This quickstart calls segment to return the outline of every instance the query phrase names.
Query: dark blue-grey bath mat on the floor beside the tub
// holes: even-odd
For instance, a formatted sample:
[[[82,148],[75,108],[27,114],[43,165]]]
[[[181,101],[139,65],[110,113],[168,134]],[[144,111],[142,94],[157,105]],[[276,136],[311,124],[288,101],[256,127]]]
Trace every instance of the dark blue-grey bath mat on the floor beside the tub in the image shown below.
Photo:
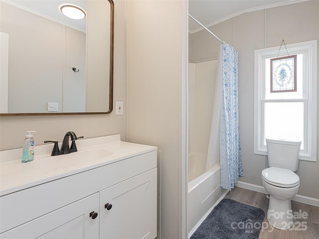
[[[264,217],[260,208],[223,199],[190,239],[258,239]]]

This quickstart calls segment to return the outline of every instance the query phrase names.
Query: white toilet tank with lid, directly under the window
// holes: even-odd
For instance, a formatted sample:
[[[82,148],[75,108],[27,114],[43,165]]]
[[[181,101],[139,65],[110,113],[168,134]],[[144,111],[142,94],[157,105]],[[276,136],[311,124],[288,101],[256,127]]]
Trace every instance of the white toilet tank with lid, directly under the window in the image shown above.
[[[292,171],[298,169],[298,154],[301,141],[266,138],[266,143],[269,167],[286,168]]]

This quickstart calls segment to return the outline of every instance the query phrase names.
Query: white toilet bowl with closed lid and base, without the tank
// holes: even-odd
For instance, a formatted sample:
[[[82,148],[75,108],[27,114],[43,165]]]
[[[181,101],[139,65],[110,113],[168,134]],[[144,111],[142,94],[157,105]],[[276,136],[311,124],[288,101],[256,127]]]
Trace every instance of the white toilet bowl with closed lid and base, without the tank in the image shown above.
[[[299,176],[289,169],[270,167],[262,171],[262,180],[270,195],[268,222],[280,230],[291,228],[294,224],[291,199],[298,192]]]

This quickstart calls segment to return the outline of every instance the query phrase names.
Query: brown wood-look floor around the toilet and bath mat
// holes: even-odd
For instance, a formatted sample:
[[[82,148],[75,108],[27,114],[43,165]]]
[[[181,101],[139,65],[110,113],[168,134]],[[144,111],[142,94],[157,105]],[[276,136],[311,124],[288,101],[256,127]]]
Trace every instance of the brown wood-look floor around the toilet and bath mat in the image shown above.
[[[265,212],[264,222],[268,223],[266,215],[269,199],[266,198],[266,194],[235,187],[225,198],[263,209]],[[295,223],[297,221],[307,222],[306,231],[278,230],[269,225],[267,229],[260,231],[259,239],[319,239],[319,208],[292,201],[292,210],[294,212],[299,212],[299,210],[307,212],[307,219],[295,220]]]

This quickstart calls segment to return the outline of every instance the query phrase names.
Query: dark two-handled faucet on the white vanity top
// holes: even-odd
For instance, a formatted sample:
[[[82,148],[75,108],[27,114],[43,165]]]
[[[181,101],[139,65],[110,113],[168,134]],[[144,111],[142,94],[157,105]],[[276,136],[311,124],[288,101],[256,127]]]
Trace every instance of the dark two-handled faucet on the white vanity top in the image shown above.
[[[72,144],[71,144],[71,148],[69,147],[69,138],[71,137],[72,140]],[[75,144],[75,140],[77,140],[78,138],[83,138],[83,136],[77,137],[76,134],[72,131],[68,131],[65,133],[64,138],[62,140],[62,146],[61,146],[61,151],[59,150],[59,146],[58,146],[58,141],[44,141],[45,143],[48,142],[52,142],[54,143],[54,147],[51,153],[51,156],[56,156],[56,155],[60,155],[60,154],[68,154],[68,153],[72,153],[72,152],[76,152],[78,151],[76,148],[76,144]]]

